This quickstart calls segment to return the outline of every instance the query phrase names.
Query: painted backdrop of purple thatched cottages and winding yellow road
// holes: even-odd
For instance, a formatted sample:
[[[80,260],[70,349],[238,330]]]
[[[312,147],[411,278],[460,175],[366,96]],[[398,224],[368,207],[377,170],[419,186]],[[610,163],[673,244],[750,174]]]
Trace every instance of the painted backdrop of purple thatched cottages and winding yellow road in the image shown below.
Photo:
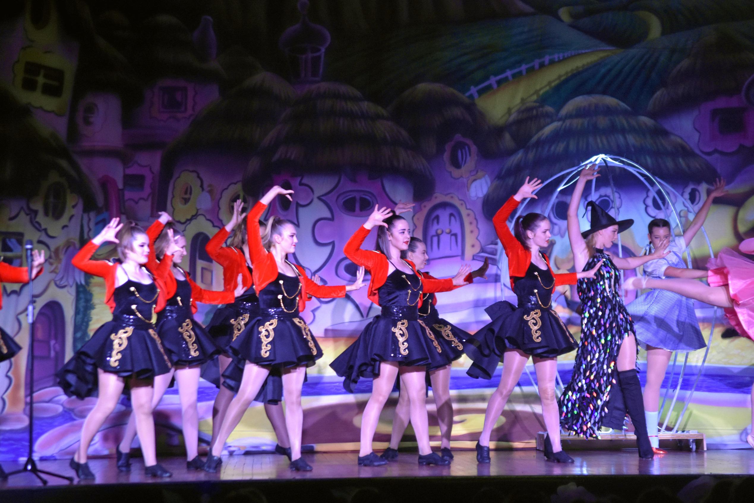
[[[746,0],[4,2],[0,256],[25,263],[31,239],[50,257],[34,282],[34,333],[23,321],[28,286],[3,285],[0,311],[21,345],[35,338],[36,453],[71,455],[93,403],[61,394],[54,371],[109,318],[103,281],[70,265],[108,219],[148,225],[167,210],[189,243],[182,265],[201,286],[220,289],[222,269],[204,245],[234,201],[280,184],[296,191],[294,201],[269,211],[298,225],[296,262],[341,284],[356,272],[342,247],[375,204],[415,201],[409,219],[428,244],[433,275],[452,275],[461,262],[492,264],[486,281],[439,296],[443,317],[473,332],[486,324],[487,305],[510,297],[491,218],[526,176],[549,179],[605,153],[663,180],[668,196],[615,167],[587,191],[636,220],[621,236],[624,255],[642,253],[642,229],[654,217],[676,210],[688,224],[718,176],[730,192],[716,200],[689,259],[703,267],[710,247],[754,236],[752,75],[754,4]],[[547,210],[547,251],[556,270],[569,271],[570,189],[556,192],[561,180],[527,210]],[[97,256],[112,254],[103,247]],[[562,287],[555,302],[578,334],[575,290]],[[701,374],[704,351],[688,357],[680,385],[683,355],[673,379],[669,372],[665,384],[679,394],[666,407],[668,424],[688,405],[679,429],[703,431],[710,446],[741,446],[754,347],[730,337],[710,306],[696,307],[710,351]],[[202,306],[198,320],[212,312]],[[326,357],[308,370],[305,443],[355,446],[370,385],[346,394],[328,363],[374,314],[365,290],[309,303],[305,319]],[[26,452],[31,357],[24,350],[0,363],[0,459]],[[572,360],[559,363],[564,381]],[[476,440],[497,385],[467,378],[465,367],[454,363],[451,383],[459,442]],[[493,434],[501,443],[532,446],[544,428],[532,384],[525,373]],[[203,382],[203,440],[215,392]],[[128,412],[123,399],[93,453],[113,452]],[[179,414],[171,390],[156,415],[166,451],[181,449]],[[378,441],[388,440],[391,416],[388,406]],[[255,404],[229,449],[272,445]]]

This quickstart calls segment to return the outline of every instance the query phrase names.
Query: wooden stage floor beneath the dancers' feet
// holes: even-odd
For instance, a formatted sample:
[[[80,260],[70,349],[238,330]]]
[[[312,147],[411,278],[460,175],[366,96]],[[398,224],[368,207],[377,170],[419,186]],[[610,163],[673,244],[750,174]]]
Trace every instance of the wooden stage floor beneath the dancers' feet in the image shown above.
[[[86,486],[88,494],[94,495],[97,490],[106,491],[107,501],[112,499],[113,485],[133,490],[142,488],[144,494],[154,489],[167,491],[186,491],[191,487],[196,491],[208,491],[208,487],[221,487],[238,489],[242,486],[253,485],[260,490],[269,490],[277,483],[284,483],[287,488],[287,498],[284,501],[296,501],[291,497],[289,489],[298,487],[305,493],[306,484],[311,484],[311,490],[317,491],[323,488],[332,488],[340,485],[367,484],[382,487],[381,490],[390,488],[403,488],[407,484],[415,488],[422,485],[440,487],[443,484],[456,484],[453,487],[461,488],[469,486],[480,488],[485,484],[501,483],[506,487],[513,487],[516,483],[524,483],[531,487],[535,485],[544,492],[556,490],[557,486],[575,481],[578,485],[589,486],[588,482],[597,483],[602,480],[612,484],[615,476],[623,479],[634,480],[630,487],[638,491],[645,490],[652,480],[663,480],[664,486],[677,486],[678,488],[700,475],[737,476],[754,474],[754,451],[741,450],[708,450],[697,452],[670,451],[666,455],[657,456],[651,461],[640,460],[636,455],[636,449],[624,449],[618,451],[574,451],[571,452],[576,462],[573,465],[560,465],[544,461],[544,455],[534,449],[499,450],[493,451],[492,464],[478,465],[474,451],[455,451],[455,459],[449,467],[422,467],[417,464],[415,452],[401,452],[397,462],[391,462],[384,467],[364,468],[357,466],[355,452],[323,452],[305,454],[305,459],[314,467],[314,471],[295,472],[288,468],[288,461],[284,456],[276,454],[256,455],[231,455],[224,456],[222,469],[217,474],[207,474],[204,471],[187,471],[185,459],[167,458],[161,459],[161,464],[173,472],[169,479],[146,478],[143,474],[141,459],[133,460],[130,474],[121,474],[115,468],[115,459],[90,459],[90,467],[97,475],[96,482],[76,481],[72,489],[83,489]],[[20,468],[18,463],[3,462],[6,471]],[[38,467],[42,470],[53,471],[61,474],[72,475],[67,460],[41,461]],[[630,477],[633,476],[633,477]],[[659,477],[657,477],[659,476]],[[65,480],[48,477],[50,486],[42,489],[41,484],[32,474],[21,474],[11,477],[7,481],[0,481],[0,501],[51,501],[44,498],[44,492],[49,489],[57,489],[55,494],[62,496],[66,490],[62,486],[68,486]],[[529,480],[527,483],[526,480]],[[645,482],[637,482],[645,480]],[[255,481],[254,484],[249,484]],[[513,486],[511,485],[512,482]],[[606,481],[606,482],[605,482]],[[627,480],[624,480],[624,482]],[[442,482],[442,484],[440,484]],[[70,487],[70,486],[69,486]],[[608,485],[609,487],[609,485]],[[204,488],[204,489],[202,489]],[[5,490],[2,490],[5,489]],[[10,495],[13,489],[27,489],[17,494],[25,494],[26,499],[5,499],[3,493]],[[264,489],[264,490],[268,490]],[[213,489],[217,492],[219,489]],[[235,490],[235,489],[234,489]],[[403,489],[401,489],[403,490]],[[599,488],[596,489],[599,492]],[[119,492],[120,489],[118,489]],[[164,491],[163,491],[164,492]],[[211,491],[210,491],[211,492]],[[552,492],[550,493],[552,494]],[[35,495],[40,498],[36,500]],[[73,493],[71,493],[73,496]],[[412,498],[412,501],[420,501]],[[65,501],[65,500],[64,500]],[[76,501],[69,499],[67,501]],[[84,500],[81,500],[84,501]],[[183,499],[182,501],[190,501]],[[197,499],[196,501],[199,501]],[[209,501],[209,500],[202,500]],[[267,495],[264,501],[277,501],[274,495]],[[281,500],[282,501],[282,500]],[[392,501],[407,501],[403,498],[394,498]],[[629,500],[630,501],[630,500]]]

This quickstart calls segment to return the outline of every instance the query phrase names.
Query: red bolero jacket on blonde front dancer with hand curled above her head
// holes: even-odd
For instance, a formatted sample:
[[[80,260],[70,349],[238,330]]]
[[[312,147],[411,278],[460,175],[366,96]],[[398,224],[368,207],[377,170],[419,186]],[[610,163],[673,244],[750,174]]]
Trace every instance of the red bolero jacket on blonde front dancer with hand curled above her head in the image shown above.
[[[256,293],[264,289],[277,278],[277,263],[272,253],[265,250],[262,246],[262,237],[259,235],[259,217],[265,213],[266,204],[258,202],[247,216],[246,228],[248,232],[247,242],[249,243],[249,255],[253,271],[254,289]],[[293,264],[292,264],[293,265]],[[299,311],[306,307],[308,296],[320,297],[323,299],[332,299],[333,297],[345,297],[345,285],[339,287],[327,287],[318,285],[309,279],[300,265],[293,265],[299,272],[301,280],[301,295],[299,296]]]

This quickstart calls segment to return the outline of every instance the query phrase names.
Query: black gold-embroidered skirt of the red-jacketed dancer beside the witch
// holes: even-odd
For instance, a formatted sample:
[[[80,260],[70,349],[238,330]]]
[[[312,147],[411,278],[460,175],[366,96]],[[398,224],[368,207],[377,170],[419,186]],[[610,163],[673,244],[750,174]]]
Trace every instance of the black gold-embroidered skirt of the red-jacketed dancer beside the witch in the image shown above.
[[[578,345],[552,308],[525,305],[516,308],[507,301],[486,310],[492,322],[467,339],[464,352],[472,360],[466,373],[492,379],[506,349],[519,349],[535,357],[549,358],[570,353]]]

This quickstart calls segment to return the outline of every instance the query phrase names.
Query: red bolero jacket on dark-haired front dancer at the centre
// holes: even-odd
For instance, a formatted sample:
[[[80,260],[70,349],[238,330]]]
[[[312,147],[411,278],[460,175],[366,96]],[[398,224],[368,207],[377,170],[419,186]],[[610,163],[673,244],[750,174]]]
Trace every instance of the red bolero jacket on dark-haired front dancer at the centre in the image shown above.
[[[390,262],[388,262],[388,257],[379,253],[379,251],[361,249],[361,245],[366,239],[366,236],[369,235],[369,232],[370,229],[363,225],[358,228],[357,231],[354,232],[354,235],[351,236],[351,239],[348,240],[348,243],[345,244],[343,253],[345,253],[345,256],[347,256],[348,259],[351,259],[351,262],[354,262],[354,264],[363,265],[363,267],[369,271],[369,274],[372,275],[372,278],[369,279],[369,290],[367,291],[366,296],[368,296],[369,300],[376,305],[379,305],[379,293],[377,290],[388,280],[388,268],[390,267]],[[406,260],[406,263],[411,266],[414,272],[416,272],[413,262]],[[419,276],[419,279],[423,286],[423,293],[447,292],[453,290],[453,287],[455,287],[452,278],[438,280],[427,278],[426,276],[425,278],[421,278],[421,276]],[[421,307],[421,300],[423,298],[424,296],[421,296],[417,307]]]

